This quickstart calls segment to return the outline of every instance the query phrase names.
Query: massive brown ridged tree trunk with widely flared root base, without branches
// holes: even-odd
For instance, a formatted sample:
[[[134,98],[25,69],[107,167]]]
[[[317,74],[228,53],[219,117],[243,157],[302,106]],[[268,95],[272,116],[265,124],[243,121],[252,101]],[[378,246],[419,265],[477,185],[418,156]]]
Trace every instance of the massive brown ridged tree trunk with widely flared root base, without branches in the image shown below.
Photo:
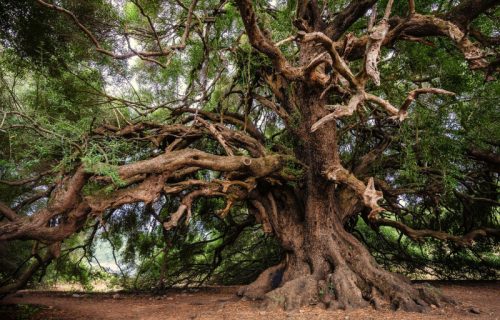
[[[444,301],[430,288],[413,286],[405,277],[383,270],[368,250],[344,229],[345,220],[362,209],[349,189],[325,177],[325,170],[339,161],[336,124],[330,122],[314,133],[311,125],[324,116],[320,93],[299,88],[302,127],[296,131],[296,156],[308,170],[299,191],[256,195],[267,212],[286,258],[264,271],[240,295],[265,299],[270,305],[294,309],[308,304],[329,308],[373,305],[423,311]],[[352,193],[352,197],[347,195]]]

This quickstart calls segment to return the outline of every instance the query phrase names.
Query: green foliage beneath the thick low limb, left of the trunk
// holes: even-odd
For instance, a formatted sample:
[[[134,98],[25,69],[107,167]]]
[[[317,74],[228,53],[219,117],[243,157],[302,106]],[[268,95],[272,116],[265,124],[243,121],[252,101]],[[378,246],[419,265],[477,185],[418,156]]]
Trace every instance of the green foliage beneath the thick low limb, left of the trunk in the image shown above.
[[[166,201],[158,213],[161,217],[178,205],[173,199],[161,201]],[[151,220],[151,209],[126,206],[108,220],[108,232],[98,243],[110,246],[100,246],[101,253],[96,254],[101,264],[115,265],[116,280],[122,287],[136,290],[250,282],[279,261],[279,246],[259,226],[249,223],[251,217],[241,207],[231,210],[225,219],[209,214],[223,207],[220,199],[200,199],[188,226],[165,233]],[[248,226],[240,229],[243,225]],[[108,254],[103,255],[103,250]],[[114,250],[116,261],[109,250]]]

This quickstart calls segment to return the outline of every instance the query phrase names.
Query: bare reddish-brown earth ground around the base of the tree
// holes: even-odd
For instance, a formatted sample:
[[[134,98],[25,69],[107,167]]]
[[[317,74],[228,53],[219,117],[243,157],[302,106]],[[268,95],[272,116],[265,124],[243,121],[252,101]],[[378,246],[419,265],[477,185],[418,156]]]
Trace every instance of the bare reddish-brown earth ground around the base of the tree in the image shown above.
[[[235,287],[197,292],[169,291],[162,295],[21,291],[0,300],[0,319],[499,319],[500,282],[433,282],[459,303],[430,313],[323,310],[304,307],[287,312],[265,310],[258,301],[242,301]]]

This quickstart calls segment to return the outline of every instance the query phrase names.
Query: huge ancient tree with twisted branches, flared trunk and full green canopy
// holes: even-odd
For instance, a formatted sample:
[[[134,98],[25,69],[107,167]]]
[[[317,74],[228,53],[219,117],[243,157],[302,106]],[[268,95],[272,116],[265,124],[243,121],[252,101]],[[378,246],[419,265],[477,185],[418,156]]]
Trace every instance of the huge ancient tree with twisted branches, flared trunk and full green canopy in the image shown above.
[[[241,295],[439,305],[362,242],[380,235],[383,262],[410,240],[445,241],[425,248],[439,257],[498,236],[496,4],[2,3],[0,240],[34,242],[1,292],[100,225],[148,254],[131,226],[163,227],[167,248],[206,212],[197,234],[229,222],[217,248],[256,221],[283,250]],[[474,250],[498,264],[493,240]]]

